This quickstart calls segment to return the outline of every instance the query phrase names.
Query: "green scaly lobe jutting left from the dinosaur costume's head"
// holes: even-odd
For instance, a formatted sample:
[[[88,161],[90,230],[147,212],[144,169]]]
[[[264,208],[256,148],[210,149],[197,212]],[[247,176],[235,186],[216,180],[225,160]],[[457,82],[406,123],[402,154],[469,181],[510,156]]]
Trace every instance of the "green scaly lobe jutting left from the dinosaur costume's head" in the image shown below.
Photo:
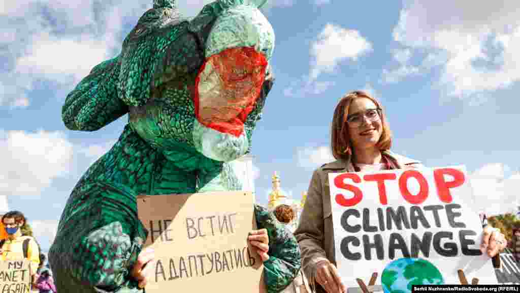
[[[67,95],[61,118],[71,130],[95,131],[128,113],[118,97],[120,56],[95,66]]]

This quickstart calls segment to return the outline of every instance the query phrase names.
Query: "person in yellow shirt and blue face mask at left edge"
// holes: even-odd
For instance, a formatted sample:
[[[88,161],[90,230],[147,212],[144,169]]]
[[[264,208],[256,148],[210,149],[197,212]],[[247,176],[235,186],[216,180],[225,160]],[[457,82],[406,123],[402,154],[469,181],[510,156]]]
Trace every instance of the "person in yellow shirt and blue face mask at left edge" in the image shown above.
[[[40,264],[40,248],[32,236],[22,235],[20,227],[25,223],[25,216],[19,211],[11,211],[2,216],[7,239],[0,240],[0,259],[14,261],[27,259],[31,283],[36,285],[36,271]]]

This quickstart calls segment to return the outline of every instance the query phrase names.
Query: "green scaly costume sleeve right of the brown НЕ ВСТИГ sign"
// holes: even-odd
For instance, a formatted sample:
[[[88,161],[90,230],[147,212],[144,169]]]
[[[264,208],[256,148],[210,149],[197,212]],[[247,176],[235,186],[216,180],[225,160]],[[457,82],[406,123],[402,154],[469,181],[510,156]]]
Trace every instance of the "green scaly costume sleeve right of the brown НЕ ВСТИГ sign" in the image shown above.
[[[266,228],[269,236],[269,259],[264,262],[267,292],[280,292],[300,270],[300,248],[291,232],[264,207],[255,205],[255,215],[258,229]]]

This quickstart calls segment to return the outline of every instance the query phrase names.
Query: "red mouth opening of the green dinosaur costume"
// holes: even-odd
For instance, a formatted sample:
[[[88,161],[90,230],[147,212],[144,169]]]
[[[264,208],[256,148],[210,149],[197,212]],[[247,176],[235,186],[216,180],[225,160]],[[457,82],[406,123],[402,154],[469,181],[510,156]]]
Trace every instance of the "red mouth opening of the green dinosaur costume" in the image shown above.
[[[240,136],[265,79],[267,60],[251,47],[229,48],[206,59],[193,93],[202,125]]]

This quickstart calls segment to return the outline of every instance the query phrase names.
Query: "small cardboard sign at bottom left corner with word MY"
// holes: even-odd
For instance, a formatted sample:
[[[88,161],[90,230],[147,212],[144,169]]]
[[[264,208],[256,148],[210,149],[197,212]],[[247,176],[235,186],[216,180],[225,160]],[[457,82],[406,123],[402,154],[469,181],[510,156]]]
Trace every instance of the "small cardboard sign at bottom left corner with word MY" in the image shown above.
[[[0,292],[27,293],[30,291],[29,261],[0,261]]]

